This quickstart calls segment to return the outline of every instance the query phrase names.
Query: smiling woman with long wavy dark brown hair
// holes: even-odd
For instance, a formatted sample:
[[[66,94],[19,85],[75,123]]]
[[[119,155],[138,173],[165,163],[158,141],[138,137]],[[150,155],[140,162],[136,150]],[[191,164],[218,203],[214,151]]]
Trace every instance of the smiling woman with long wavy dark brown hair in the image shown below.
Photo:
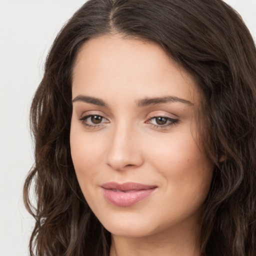
[[[86,2],[32,101],[30,254],[254,256],[255,74],[221,0]]]

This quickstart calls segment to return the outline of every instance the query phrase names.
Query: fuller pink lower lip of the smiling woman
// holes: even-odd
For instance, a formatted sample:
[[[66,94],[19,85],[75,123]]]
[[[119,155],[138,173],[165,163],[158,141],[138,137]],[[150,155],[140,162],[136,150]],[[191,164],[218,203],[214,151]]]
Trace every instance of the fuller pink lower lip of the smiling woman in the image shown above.
[[[117,206],[130,206],[148,197],[156,187],[149,189],[134,190],[129,192],[117,192],[103,188],[105,199]]]

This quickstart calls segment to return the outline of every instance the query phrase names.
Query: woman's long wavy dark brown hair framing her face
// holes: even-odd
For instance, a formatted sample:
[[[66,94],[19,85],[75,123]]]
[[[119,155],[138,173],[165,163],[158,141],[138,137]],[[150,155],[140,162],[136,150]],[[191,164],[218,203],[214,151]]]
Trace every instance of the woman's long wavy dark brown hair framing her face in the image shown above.
[[[201,91],[201,136],[214,163],[201,255],[255,256],[256,49],[240,16],[221,0],[89,0],[68,20],[31,105],[35,164],[24,184],[24,202],[35,218],[30,254],[109,254],[110,233],[75,176],[69,129],[75,56],[87,39],[113,33],[158,43]]]

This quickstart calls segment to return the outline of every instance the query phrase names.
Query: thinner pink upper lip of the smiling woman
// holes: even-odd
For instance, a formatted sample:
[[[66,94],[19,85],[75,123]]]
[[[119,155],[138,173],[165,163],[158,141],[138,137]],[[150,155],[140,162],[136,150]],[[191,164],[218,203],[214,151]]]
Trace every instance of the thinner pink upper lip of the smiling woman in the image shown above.
[[[121,191],[127,190],[142,190],[142,189],[151,189],[157,187],[156,185],[146,185],[140,184],[136,182],[125,182],[125,183],[117,183],[117,182],[107,182],[101,185],[101,187],[105,189],[116,189]]]

